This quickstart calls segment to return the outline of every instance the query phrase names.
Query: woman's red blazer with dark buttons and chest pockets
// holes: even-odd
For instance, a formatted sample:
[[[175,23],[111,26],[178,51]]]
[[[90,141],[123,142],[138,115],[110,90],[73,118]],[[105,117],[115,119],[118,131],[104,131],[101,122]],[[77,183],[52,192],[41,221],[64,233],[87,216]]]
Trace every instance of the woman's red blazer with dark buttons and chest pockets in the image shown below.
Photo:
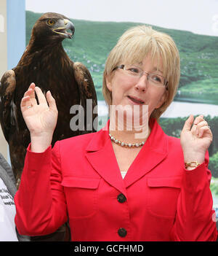
[[[28,147],[15,195],[19,233],[46,235],[69,218],[73,241],[216,241],[208,154],[187,171],[179,139],[156,120],[150,127],[124,179],[108,131],[43,153]]]

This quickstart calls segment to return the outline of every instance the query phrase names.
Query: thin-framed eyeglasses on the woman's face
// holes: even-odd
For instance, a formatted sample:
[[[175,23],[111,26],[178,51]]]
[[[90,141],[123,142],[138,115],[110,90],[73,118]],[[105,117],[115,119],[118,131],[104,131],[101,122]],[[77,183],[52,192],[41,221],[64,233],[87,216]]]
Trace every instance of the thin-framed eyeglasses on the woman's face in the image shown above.
[[[135,77],[136,79],[140,79],[140,77],[142,77],[143,74],[147,74],[147,79],[151,85],[167,88],[168,82],[160,74],[149,74],[148,72],[143,71],[142,69],[140,69],[140,67],[135,65],[119,65],[116,66],[112,71],[116,69],[123,69],[125,71],[124,74],[127,74],[131,77]]]

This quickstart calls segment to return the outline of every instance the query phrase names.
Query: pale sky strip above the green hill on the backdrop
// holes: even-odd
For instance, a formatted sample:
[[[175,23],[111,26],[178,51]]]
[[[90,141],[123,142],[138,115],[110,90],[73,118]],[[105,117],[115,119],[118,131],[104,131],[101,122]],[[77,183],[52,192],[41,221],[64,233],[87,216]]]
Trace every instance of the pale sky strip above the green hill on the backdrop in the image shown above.
[[[76,20],[133,21],[218,36],[218,0],[25,0],[25,6]]]

